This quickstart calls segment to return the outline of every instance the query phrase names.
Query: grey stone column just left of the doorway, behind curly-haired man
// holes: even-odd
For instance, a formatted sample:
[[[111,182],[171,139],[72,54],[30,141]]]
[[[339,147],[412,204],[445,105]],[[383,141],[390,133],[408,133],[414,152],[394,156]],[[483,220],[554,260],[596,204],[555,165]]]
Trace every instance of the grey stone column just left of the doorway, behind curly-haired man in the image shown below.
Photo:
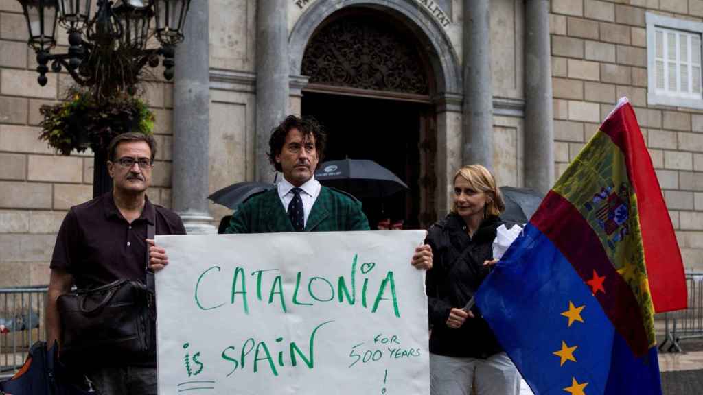
[[[271,182],[269,137],[288,114],[288,1],[259,0],[257,7],[256,179]]]

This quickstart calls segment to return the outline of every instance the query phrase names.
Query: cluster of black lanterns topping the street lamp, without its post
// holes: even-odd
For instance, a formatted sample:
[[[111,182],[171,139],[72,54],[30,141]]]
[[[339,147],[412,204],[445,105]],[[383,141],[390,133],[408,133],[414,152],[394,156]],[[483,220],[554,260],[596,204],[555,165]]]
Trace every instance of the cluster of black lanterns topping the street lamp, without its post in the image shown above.
[[[183,41],[183,24],[191,0],[98,0],[90,18],[91,0],[18,0],[30,31],[28,44],[37,53],[39,85],[46,85],[47,65],[65,69],[82,86],[102,86],[102,96],[134,89],[144,65],[157,67],[163,58],[164,77],[174,75],[175,46]],[[114,5],[114,6],[113,6]],[[150,31],[151,20],[155,28]],[[56,22],[65,27],[67,53],[51,54]],[[150,33],[160,48],[146,48]],[[124,64],[129,63],[127,72]],[[120,65],[117,69],[117,65]]]

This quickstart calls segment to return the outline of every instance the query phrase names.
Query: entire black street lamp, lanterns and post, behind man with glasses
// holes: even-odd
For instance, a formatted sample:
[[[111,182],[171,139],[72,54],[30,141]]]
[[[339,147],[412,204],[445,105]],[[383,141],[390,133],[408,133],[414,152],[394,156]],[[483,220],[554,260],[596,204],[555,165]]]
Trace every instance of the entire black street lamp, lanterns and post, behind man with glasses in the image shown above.
[[[170,80],[174,76],[175,48],[183,41],[191,0],[18,1],[30,32],[28,44],[37,53],[37,82],[41,86],[48,82],[46,73],[51,63],[54,72],[66,70],[88,92],[93,110],[101,112],[116,99],[134,96],[145,65],[157,67],[161,63],[164,77]],[[96,9],[91,13],[93,2]],[[50,52],[56,46],[57,23],[68,33],[69,47],[63,53]],[[158,45],[149,45],[156,44],[151,37],[156,38]],[[126,127],[118,125],[129,123],[133,115],[120,113],[119,119],[107,119],[108,116],[90,114],[91,111],[82,110],[80,119],[72,118],[69,124],[75,127],[69,129],[77,140],[69,141],[90,141],[95,154],[93,196],[98,196],[112,186],[105,166],[108,153],[104,136],[126,131]]]

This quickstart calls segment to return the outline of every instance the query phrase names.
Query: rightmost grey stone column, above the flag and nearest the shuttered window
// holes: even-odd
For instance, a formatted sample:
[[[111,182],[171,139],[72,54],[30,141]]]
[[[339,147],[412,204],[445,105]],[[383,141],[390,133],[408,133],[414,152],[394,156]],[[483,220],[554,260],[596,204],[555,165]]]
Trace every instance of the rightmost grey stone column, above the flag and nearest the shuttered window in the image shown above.
[[[525,1],[525,186],[547,193],[554,183],[549,1]]]

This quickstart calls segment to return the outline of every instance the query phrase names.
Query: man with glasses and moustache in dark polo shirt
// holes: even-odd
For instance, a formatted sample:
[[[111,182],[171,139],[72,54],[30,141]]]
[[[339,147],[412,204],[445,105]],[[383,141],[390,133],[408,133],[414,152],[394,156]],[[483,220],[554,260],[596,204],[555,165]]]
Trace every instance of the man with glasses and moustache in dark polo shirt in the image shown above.
[[[49,346],[61,340],[57,299],[79,289],[112,281],[143,280],[146,254],[153,240],[147,225],[157,235],[183,235],[186,228],[174,212],[151,203],[150,186],[156,142],[140,133],[120,134],[108,148],[108,171],[112,191],[71,207],[56,238],[51,259],[46,322]],[[96,164],[98,165],[98,164]],[[151,262],[158,271],[163,266]],[[156,357],[136,361],[130,355],[105,355],[103,361],[86,361],[86,372],[98,391],[112,394],[156,394]]]

